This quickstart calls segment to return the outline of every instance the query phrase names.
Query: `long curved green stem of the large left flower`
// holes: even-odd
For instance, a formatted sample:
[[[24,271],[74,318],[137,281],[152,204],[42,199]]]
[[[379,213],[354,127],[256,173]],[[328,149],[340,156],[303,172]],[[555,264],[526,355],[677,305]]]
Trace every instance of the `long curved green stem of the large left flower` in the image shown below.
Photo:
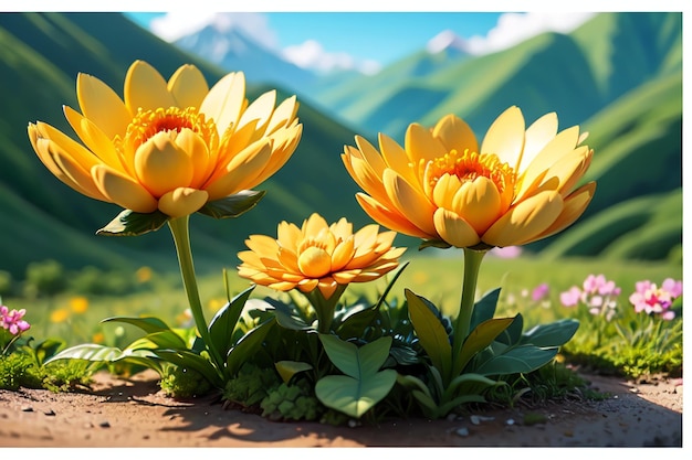
[[[190,310],[192,311],[195,325],[197,327],[197,331],[202,338],[205,346],[209,351],[211,360],[217,366],[219,374],[222,374],[223,360],[213,346],[211,335],[209,334],[209,327],[207,325],[207,320],[205,320],[202,302],[199,300],[197,278],[195,276],[195,264],[192,263],[192,250],[190,248],[189,221],[189,215],[171,218],[168,221],[168,226],[170,227],[170,233],[172,234],[174,242],[176,244],[176,250],[178,252],[178,264],[180,265],[182,286],[185,287],[185,292],[188,296],[188,302],[190,304]]]

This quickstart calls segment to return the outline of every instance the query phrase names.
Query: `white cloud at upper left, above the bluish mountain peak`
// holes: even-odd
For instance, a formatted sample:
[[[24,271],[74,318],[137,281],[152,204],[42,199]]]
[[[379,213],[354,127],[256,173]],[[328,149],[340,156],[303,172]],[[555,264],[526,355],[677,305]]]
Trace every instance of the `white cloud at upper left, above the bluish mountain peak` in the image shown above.
[[[269,50],[277,46],[276,34],[269,26],[266,15],[262,13],[196,13],[190,11],[169,12],[151,21],[151,32],[161,39],[172,42],[181,36],[198,32],[207,25],[213,25],[217,30],[226,32],[230,29],[242,31]]]

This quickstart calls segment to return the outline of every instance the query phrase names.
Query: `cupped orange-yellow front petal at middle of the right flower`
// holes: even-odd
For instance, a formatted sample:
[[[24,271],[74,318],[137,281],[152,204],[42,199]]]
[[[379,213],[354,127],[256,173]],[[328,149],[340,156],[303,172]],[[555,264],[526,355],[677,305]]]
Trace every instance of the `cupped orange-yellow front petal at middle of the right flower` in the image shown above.
[[[465,182],[454,194],[452,211],[482,235],[500,217],[501,197],[495,183],[485,176]]]

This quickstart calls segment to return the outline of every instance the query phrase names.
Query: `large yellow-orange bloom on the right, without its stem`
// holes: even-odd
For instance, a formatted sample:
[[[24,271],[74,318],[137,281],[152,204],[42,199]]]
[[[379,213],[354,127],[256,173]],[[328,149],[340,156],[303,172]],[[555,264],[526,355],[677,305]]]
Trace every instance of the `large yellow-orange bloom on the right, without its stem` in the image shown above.
[[[558,132],[555,114],[526,129],[510,107],[480,149],[469,126],[448,115],[432,129],[410,125],[403,148],[381,133],[380,151],[356,137],[342,159],[379,224],[443,245],[504,247],[553,235],[586,210],[596,183],[574,190],[594,154],[579,146],[585,137],[578,126]]]

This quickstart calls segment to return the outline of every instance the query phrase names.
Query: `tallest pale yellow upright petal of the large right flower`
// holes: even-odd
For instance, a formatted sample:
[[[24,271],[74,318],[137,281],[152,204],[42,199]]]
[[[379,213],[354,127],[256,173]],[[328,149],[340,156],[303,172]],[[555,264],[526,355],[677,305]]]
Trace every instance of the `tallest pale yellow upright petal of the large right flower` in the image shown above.
[[[516,171],[524,149],[524,129],[522,110],[510,107],[487,129],[479,153],[495,153]]]

